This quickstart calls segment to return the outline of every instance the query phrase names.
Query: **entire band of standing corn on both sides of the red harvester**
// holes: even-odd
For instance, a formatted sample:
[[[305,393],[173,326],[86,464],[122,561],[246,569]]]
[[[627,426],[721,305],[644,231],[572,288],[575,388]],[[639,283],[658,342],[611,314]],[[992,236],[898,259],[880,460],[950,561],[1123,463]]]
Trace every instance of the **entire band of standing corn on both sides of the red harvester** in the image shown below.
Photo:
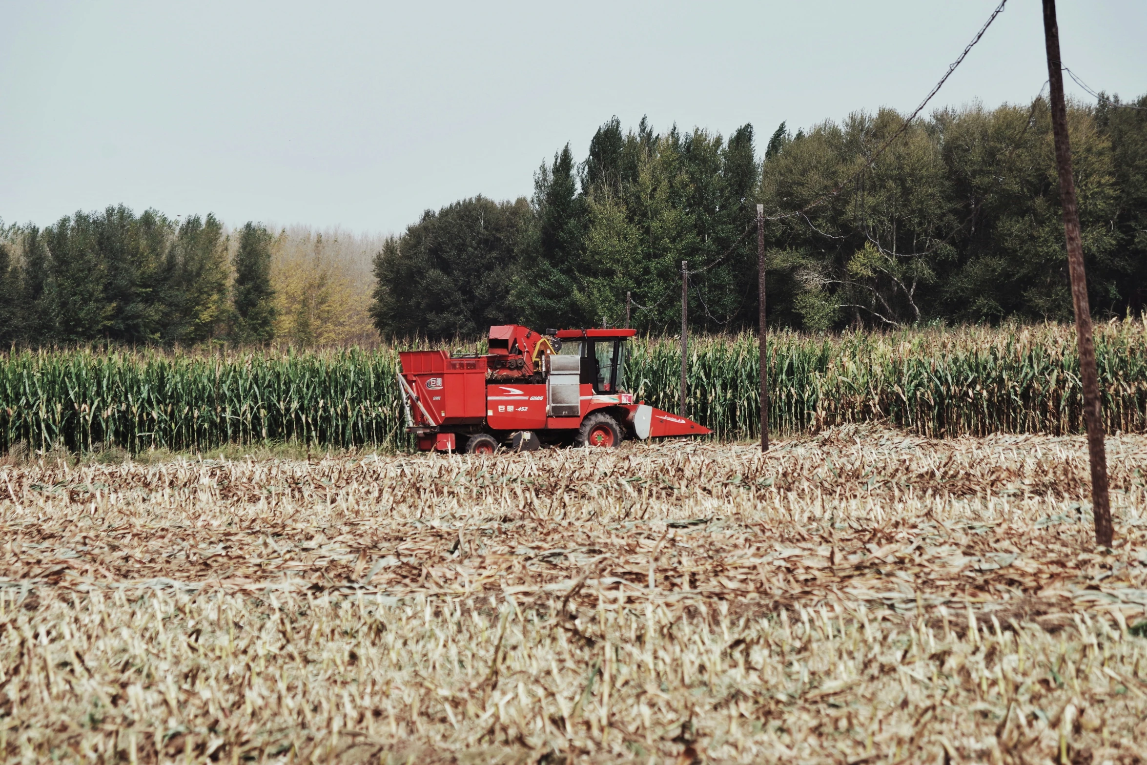
[[[637,338],[637,397],[678,408],[672,337]],[[455,344],[455,350],[474,350]],[[816,432],[883,421],[924,436],[1078,432],[1083,396],[1071,326],[770,336],[770,428]],[[1147,319],[1097,327],[1109,431],[1147,430]],[[688,414],[725,439],[757,436],[752,335],[689,344]],[[393,348],[218,356],[157,351],[13,352],[0,358],[0,452],[118,446],[206,450],[296,440],[409,448]]]

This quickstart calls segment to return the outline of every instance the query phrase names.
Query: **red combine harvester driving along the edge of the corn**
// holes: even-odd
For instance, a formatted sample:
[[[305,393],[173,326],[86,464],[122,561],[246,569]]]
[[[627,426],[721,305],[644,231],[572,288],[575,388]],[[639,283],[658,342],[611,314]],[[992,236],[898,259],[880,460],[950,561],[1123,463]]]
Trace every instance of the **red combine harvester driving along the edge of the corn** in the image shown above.
[[[624,438],[700,436],[686,417],[633,403],[623,374],[633,329],[490,328],[485,356],[403,351],[406,429],[422,451],[491,454],[543,443],[617,446]]]

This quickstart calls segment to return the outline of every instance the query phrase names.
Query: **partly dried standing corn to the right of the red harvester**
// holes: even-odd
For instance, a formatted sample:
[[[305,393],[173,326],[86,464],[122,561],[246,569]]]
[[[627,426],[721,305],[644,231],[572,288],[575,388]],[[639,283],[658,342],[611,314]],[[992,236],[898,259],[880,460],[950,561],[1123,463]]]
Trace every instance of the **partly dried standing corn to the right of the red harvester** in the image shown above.
[[[807,432],[885,421],[929,437],[1083,430],[1074,326],[968,327],[768,336],[770,430]],[[1147,317],[1095,327],[1109,432],[1147,430]],[[680,341],[635,343],[626,369],[649,404],[676,411]],[[688,412],[720,437],[758,435],[752,335],[689,343]]]

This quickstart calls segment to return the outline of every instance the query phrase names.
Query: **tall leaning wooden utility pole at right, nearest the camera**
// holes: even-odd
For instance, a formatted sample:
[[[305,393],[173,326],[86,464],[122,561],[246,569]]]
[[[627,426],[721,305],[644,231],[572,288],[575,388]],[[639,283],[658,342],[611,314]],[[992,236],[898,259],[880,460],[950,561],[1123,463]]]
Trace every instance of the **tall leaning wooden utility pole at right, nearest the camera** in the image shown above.
[[[1095,341],[1087,302],[1087,279],[1083,270],[1083,241],[1079,237],[1079,210],[1075,179],[1071,175],[1071,143],[1068,115],[1063,103],[1063,64],[1060,58],[1060,29],[1055,22],[1055,0],[1044,0],[1044,39],[1047,44],[1047,75],[1052,86],[1052,130],[1055,133],[1055,162],[1060,170],[1060,204],[1063,206],[1063,233],[1071,272],[1071,302],[1075,304],[1076,341],[1079,345],[1079,377],[1083,380],[1083,413],[1087,424],[1091,455],[1091,506],[1095,516],[1095,544],[1110,547],[1115,537],[1111,506],[1107,495],[1107,454],[1103,450],[1103,413],[1095,372]]]

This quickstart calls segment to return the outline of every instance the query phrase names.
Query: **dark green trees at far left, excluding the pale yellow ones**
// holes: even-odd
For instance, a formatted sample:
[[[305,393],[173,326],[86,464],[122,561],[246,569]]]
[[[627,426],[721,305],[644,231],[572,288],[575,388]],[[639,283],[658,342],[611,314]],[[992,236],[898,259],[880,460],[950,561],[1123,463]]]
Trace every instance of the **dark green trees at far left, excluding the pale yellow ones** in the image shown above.
[[[77,212],[0,243],[0,342],[266,343],[275,321],[271,241],[248,223],[229,237],[219,220],[182,223],[124,205]],[[18,258],[13,257],[16,250]]]

